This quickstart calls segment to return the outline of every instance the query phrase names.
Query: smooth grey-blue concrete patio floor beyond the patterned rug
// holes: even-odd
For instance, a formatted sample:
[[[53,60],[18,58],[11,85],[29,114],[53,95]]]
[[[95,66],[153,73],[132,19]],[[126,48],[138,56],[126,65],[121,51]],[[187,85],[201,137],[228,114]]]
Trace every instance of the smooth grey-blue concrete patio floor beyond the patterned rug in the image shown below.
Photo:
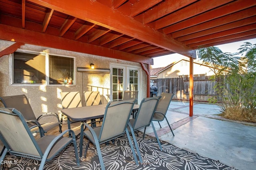
[[[175,136],[165,120],[162,128],[154,122],[160,140],[238,170],[255,170],[256,123],[222,119],[216,105],[194,103],[193,110],[189,117],[189,103],[172,101],[166,116]],[[146,134],[154,136],[151,126]]]

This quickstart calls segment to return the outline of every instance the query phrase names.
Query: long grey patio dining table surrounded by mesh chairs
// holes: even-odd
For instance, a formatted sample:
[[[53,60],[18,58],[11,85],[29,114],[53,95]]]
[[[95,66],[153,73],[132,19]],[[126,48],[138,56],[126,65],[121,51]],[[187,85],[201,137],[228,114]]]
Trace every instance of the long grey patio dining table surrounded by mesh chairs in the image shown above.
[[[139,109],[140,105],[134,105],[133,112],[136,112]],[[79,156],[82,156],[82,143],[83,143],[83,134],[84,134],[84,123],[87,120],[91,119],[100,119],[104,117],[106,109],[106,104],[104,105],[93,105],[93,106],[84,106],[84,107],[74,107],[68,109],[62,109],[62,113],[68,118],[68,129],[70,127],[70,119],[72,121],[81,122],[80,127],[80,153]],[[122,114],[122,113],[120,113]],[[71,135],[71,134],[70,134]]]

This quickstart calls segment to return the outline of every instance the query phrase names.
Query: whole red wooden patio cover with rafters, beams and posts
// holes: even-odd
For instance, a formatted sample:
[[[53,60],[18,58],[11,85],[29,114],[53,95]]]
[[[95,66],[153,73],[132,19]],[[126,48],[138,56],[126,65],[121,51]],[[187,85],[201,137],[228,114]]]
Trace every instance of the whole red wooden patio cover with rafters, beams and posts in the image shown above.
[[[0,57],[28,43],[134,61],[149,87],[154,57],[190,57],[192,77],[195,49],[256,38],[255,11],[255,0],[0,0],[0,39],[16,42]]]

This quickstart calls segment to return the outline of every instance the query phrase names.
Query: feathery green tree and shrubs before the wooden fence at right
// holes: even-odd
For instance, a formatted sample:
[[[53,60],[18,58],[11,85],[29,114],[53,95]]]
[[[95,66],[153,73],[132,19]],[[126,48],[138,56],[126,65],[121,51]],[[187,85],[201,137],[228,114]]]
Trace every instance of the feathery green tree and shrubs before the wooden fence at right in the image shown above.
[[[238,50],[223,53],[218,47],[206,47],[197,53],[199,59],[213,67],[218,80],[214,101],[222,102],[222,115],[256,122],[256,44],[246,42]]]

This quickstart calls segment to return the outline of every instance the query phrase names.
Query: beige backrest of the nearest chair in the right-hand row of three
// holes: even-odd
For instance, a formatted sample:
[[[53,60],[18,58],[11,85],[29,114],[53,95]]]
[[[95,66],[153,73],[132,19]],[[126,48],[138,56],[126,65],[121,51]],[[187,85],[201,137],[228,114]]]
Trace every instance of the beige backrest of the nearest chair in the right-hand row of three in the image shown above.
[[[106,106],[99,142],[116,138],[125,133],[135,100],[109,102]]]

